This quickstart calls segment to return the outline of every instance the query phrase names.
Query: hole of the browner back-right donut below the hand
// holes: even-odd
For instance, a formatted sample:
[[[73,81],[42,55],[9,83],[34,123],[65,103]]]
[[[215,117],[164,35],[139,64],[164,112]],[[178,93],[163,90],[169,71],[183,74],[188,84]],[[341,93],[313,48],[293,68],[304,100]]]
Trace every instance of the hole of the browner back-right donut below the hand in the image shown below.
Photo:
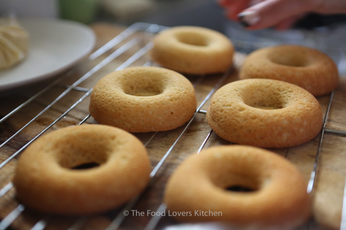
[[[290,67],[305,67],[310,63],[305,55],[297,52],[271,52],[268,58],[275,64]]]

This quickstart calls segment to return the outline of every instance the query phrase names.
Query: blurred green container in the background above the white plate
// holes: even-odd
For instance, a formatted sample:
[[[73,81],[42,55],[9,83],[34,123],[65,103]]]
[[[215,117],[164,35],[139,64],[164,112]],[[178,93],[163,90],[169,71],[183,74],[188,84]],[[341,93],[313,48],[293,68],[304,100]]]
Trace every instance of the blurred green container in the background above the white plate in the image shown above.
[[[97,0],[58,0],[59,16],[89,24],[94,21],[97,12]]]

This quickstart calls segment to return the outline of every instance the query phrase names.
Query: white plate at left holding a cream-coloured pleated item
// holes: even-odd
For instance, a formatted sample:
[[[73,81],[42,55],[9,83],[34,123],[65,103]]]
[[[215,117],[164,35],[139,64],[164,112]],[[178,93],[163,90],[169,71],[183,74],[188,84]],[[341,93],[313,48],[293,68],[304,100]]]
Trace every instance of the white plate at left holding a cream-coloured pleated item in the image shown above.
[[[0,90],[40,81],[71,68],[92,50],[95,35],[87,25],[58,19],[20,19],[30,34],[28,56],[0,71]]]

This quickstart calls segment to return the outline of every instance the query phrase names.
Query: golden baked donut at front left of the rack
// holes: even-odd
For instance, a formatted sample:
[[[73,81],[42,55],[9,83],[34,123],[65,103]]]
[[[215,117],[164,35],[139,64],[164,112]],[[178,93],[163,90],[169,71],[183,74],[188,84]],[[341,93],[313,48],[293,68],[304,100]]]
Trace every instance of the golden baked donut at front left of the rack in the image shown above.
[[[75,169],[94,163],[98,167]],[[93,214],[119,207],[149,181],[143,144],[119,128],[85,124],[45,134],[20,156],[13,184],[28,207],[53,214]]]

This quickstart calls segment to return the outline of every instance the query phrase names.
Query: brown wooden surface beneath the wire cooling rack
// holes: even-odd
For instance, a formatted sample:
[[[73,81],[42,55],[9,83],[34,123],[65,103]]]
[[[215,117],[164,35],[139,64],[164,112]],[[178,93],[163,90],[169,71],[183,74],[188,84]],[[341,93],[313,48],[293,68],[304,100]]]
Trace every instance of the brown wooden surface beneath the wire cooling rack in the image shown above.
[[[100,48],[125,29],[113,24],[105,23],[94,24],[91,27],[97,37],[94,50]],[[93,68],[100,65],[99,63],[101,63],[105,57],[135,36],[141,38],[138,44],[134,45],[124,54],[95,71],[91,77],[88,77],[78,85],[79,87],[82,87],[80,90],[69,90],[69,88],[67,88],[80,77],[90,73],[90,70],[95,70]],[[43,226],[45,226],[45,229],[57,230],[68,229],[71,226],[74,226],[74,229],[98,230],[109,226],[115,218],[122,217],[122,208],[87,218],[52,216],[44,213],[37,213],[30,210],[30,208],[20,205],[16,199],[14,188],[9,189],[8,192],[3,192],[5,189],[1,190],[1,188],[9,188],[6,186],[11,185],[9,183],[13,177],[17,158],[20,156],[22,147],[32,141],[33,138],[39,135],[52,123],[53,125],[51,128],[45,132],[78,124],[81,120],[86,118],[88,115],[89,97],[86,97],[85,100],[74,106],[74,104],[85,95],[85,91],[83,90],[90,89],[98,79],[117,69],[136,51],[143,47],[146,42],[150,41],[152,35],[143,32],[135,32],[133,35],[130,35],[130,38],[126,38],[125,41],[120,42],[99,57],[93,60],[87,59],[76,68],[73,68],[72,71],[61,74],[61,81],[54,84],[54,86],[50,87],[49,90],[43,92],[28,105],[24,106],[18,112],[0,123],[0,143],[5,142],[5,144],[0,148],[0,162],[8,161],[4,166],[0,166],[0,219],[2,220],[0,226],[10,224],[12,229],[20,230],[31,229],[35,225],[36,227],[41,227],[41,229]],[[186,76],[195,86],[198,105],[200,105],[209,92],[217,86],[220,78],[225,78],[221,85],[238,79],[238,69],[244,60],[244,57],[244,54],[236,54],[235,69],[230,74]],[[151,63],[150,61],[150,56],[148,53],[145,53],[138,60],[130,63],[130,66],[155,65],[155,63]],[[124,65],[121,67],[124,67]],[[49,82],[40,82],[31,85],[30,87],[3,93],[0,97],[0,118],[10,113],[17,106],[21,105],[21,103],[42,90],[47,84],[49,84]],[[51,105],[55,98],[57,98],[61,93],[66,92],[66,89],[68,90],[66,96]],[[325,126],[326,130],[346,131],[345,98],[346,81],[345,78],[341,77],[340,85],[335,90],[331,103],[330,112]],[[323,113],[326,114],[330,95],[321,96],[317,99],[321,104]],[[206,111],[208,104],[209,100],[202,106],[201,110]],[[49,106],[49,108],[45,109],[47,106]],[[73,109],[64,115],[64,113],[71,107],[73,107]],[[40,114],[43,110],[45,111]],[[30,124],[26,125],[28,122],[30,122]],[[90,117],[85,121],[85,123],[96,123],[96,121]],[[26,127],[22,129],[25,125]],[[169,175],[173,172],[176,166],[186,158],[186,156],[197,152],[211,131],[206,121],[206,116],[203,113],[197,113],[184,131],[185,127],[186,124],[167,132],[135,134],[143,144],[146,144],[152,168],[158,164],[163,155],[166,153],[169,154],[167,159],[161,165],[156,176],[152,179],[150,186],[142,193],[139,200],[130,207],[130,215],[124,218],[121,222],[121,229],[143,229],[148,224],[153,216],[147,215],[147,213],[148,211],[156,211],[162,204],[163,191]],[[18,132],[18,130],[21,131]],[[11,138],[14,134],[15,136]],[[174,144],[179,135],[181,135],[181,137]],[[7,141],[9,138],[10,140]],[[315,163],[319,142],[320,135],[316,136],[310,142],[300,146],[270,150],[285,156],[288,160],[297,165],[303,172],[306,181],[308,181]],[[316,180],[313,192],[311,193],[314,200],[314,216],[311,218],[310,222],[302,226],[300,229],[338,229],[340,226],[346,175],[346,137],[325,132],[321,143]],[[229,144],[231,143],[222,140],[216,136],[215,133],[212,133],[204,148]],[[171,147],[173,147],[172,150],[170,150]],[[13,154],[15,157],[9,160],[9,157]],[[1,194],[1,191],[3,194]],[[284,199],[285,197],[282,198]],[[144,212],[145,215],[136,216],[135,211]],[[12,213],[12,216],[8,216],[9,213]],[[9,220],[10,217],[13,217],[14,220]],[[78,226],[78,224],[81,225]],[[172,218],[161,217],[157,228],[162,229],[166,226],[172,225],[179,226]]]

